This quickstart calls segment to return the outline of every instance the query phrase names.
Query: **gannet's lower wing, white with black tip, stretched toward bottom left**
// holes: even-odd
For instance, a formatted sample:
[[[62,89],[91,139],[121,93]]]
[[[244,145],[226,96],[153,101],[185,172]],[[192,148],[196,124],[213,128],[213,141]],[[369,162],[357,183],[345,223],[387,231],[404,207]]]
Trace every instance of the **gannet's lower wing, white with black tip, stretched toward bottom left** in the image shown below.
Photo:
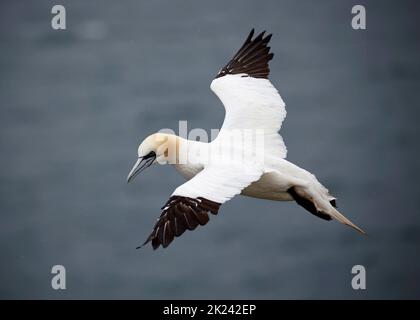
[[[185,230],[194,230],[209,221],[209,213],[216,215],[222,203],[258,180],[262,170],[244,166],[210,166],[179,186],[166,204],[145,244],[153,249],[166,248]]]

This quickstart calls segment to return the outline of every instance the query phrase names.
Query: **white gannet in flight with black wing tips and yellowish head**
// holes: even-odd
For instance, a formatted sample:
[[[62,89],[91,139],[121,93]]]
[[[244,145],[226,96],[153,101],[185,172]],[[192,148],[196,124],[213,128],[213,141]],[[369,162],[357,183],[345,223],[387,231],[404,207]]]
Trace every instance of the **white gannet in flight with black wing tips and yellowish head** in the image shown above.
[[[162,207],[162,214],[143,245],[151,242],[153,249],[160,245],[166,248],[185,230],[205,225],[208,213],[217,214],[221,204],[238,194],[294,200],[319,218],[336,219],[364,233],[337,210],[335,197],[313,174],[285,160],[287,149],[278,133],[286,116],[285,103],[268,80],[268,62],[273,58],[267,46],[271,34],[264,36],[262,32],[254,39],[253,35],[254,30],[211,83],[226,110],[214,141],[204,143],[155,133],[140,144],[127,182],[154,163],[171,163],[188,180]],[[247,150],[243,143],[229,143],[237,131],[259,135],[263,147]],[[209,153],[216,156],[209,157]],[[246,156],[221,161],[232,154]],[[262,161],[258,158],[261,154]],[[240,161],[244,158],[246,161]]]

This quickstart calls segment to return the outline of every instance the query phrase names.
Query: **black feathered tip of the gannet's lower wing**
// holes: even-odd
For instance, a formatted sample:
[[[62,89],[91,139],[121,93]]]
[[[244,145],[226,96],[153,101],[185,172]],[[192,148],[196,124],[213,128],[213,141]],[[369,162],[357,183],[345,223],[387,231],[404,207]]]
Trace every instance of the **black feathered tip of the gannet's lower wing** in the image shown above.
[[[168,247],[186,230],[194,230],[209,221],[208,213],[216,215],[220,203],[202,197],[172,196],[162,207],[162,214],[146,241],[137,249],[152,242],[153,250]]]

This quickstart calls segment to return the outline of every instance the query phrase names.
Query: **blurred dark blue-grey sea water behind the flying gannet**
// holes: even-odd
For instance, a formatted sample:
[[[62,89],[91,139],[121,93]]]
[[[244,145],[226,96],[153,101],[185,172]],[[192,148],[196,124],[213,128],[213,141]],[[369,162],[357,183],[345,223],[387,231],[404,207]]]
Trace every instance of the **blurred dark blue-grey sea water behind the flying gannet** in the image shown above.
[[[420,298],[417,1],[358,1],[366,31],[354,1],[60,3],[61,32],[56,2],[0,4],[1,298]],[[154,167],[127,185],[139,142],[221,125],[209,84],[251,27],[274,34],[289,159],[369,236],[237,197],[167,250],[135,250],[183,182]]]

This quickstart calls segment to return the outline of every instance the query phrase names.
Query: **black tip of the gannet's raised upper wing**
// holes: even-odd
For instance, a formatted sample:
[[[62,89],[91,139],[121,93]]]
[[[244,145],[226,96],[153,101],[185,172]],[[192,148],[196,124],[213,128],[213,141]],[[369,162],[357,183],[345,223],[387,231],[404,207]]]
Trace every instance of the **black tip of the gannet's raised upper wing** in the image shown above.
[[[270,52],[271,48],[268,47],[272,34],[265,35],[266,31],[264,30],[253,39],[254,33],[255,29],[252,28],[242,47],[218,72],[216,78],[227,74],[244,73],[249,77],[268,79],[270,73],[268,62],[274,56]]]

